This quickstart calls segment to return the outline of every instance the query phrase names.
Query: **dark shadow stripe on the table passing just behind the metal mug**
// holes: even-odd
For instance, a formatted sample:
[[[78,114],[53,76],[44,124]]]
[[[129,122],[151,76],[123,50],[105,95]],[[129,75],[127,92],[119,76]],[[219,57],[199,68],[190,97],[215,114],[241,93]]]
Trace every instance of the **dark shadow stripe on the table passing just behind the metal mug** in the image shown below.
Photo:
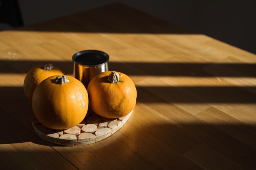
[[[67,74],[73,73],[71,57],[70,61],[0,60],[0,73],[27,73],[30,68],[47,62],[63,68]],[[110,62],[109,69],[127,75],[256,77],[256,64],[247,63]]]

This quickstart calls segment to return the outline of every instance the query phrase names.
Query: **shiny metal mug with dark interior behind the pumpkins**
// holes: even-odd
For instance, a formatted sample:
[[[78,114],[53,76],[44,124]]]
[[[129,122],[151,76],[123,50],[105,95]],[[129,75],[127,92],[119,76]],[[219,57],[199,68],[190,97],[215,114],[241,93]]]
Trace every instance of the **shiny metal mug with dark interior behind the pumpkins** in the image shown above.
[[[74,77],[87,88],[90,80],[99,73],[108,71],[109,55],[98,50],[84,50],[75,53]]]

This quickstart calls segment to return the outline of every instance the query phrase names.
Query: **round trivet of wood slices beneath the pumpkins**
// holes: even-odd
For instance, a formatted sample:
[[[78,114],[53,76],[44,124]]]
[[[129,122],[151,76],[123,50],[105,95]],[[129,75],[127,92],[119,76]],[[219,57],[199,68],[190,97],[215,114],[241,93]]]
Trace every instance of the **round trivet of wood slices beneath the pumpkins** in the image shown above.
[[[80,124],[65,130],[49,129],[43,126],[35,115],[32,115],[32,125],[40,138],[52,144],[64,146],[88,145],[105,139],[119,130],[130,118],[132,111],[118,119],[106,119],[89,110]]]

